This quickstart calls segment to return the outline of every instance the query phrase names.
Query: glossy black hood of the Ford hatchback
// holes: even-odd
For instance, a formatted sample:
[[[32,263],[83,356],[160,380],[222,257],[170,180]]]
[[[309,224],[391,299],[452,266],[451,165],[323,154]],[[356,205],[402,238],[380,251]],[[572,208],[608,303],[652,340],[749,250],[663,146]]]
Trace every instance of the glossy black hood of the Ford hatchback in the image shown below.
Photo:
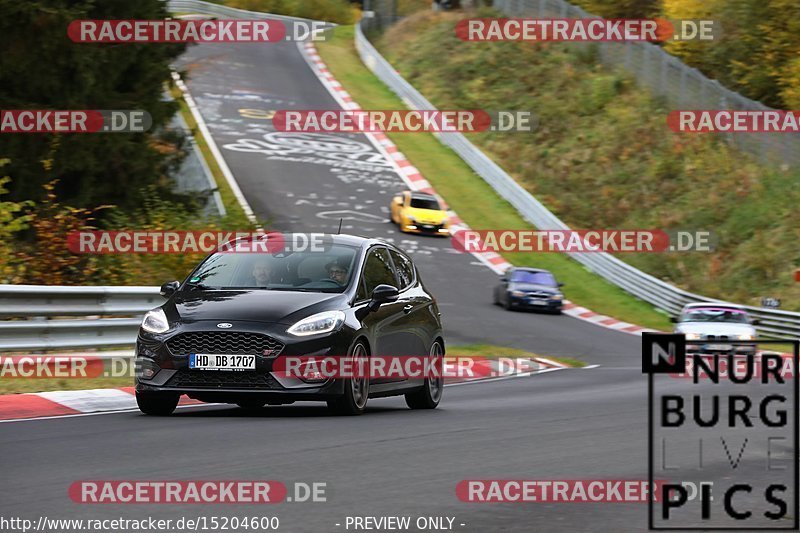
[[[268,290],[182,291],[164,305],[170,322],[201,320],[294,324],[321,311],[343,309],[344,294]]]

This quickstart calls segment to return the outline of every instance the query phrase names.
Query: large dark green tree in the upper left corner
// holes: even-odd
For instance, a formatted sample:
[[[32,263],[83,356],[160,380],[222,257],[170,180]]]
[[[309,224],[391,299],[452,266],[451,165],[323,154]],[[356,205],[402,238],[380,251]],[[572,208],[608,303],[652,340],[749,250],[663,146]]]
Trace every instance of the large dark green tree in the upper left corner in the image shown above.
[[[180,139],[160,130],[177,110],[163,92],[170,61],[185,45],[67,37],[76,19],[166,17],[161,0],[0,0],[0,109],[140,109],[153,118],[147,133],[0,135],[0,158],[11,160],[4,169],[11,200],[40,200],[53,180],[59,198],[89,208],[130,208],[148,185],[170,196],[181,152],[164,149]]]

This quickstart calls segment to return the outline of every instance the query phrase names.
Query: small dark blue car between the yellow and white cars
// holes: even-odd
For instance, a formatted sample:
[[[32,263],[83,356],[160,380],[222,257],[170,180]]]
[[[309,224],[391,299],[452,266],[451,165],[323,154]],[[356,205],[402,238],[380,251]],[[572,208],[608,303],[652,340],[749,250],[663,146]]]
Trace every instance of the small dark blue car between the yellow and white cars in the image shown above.
[[[541,268],[510,268],[494,289],[494,303],[506,309],[536,309],[561,313],[563,283]]]

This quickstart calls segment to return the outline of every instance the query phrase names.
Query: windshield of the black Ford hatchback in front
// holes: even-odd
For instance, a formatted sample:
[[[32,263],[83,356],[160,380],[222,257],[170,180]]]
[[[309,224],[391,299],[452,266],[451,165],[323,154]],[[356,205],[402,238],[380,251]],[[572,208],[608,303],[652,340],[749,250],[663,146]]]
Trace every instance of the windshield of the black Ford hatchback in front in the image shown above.
[[[357,251],[357,247],[334,244],[324,251],[217,253],[195,269],[184,289],[344,292]]]

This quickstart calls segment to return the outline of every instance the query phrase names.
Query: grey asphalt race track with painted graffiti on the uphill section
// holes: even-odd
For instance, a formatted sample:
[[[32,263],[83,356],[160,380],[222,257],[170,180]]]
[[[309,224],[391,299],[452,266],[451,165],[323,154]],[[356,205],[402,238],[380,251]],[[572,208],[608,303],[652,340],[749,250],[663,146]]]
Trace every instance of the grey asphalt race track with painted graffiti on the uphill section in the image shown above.
[[[341,217],[343,232],[399,243],[440,301],[450,344],[514,346],[600,366],[450,386],[433,412],[392,398],[370,401],[354,418],[298,404],[257,414],[204,406],[170,418],[124,412],[0,424],[3,477],[14,480],[0,485],[0,507],[31,519],[273,514],[290,532],[347,531],[347,516],[385,515],[455,517],[454,530],[475,533],[646,530],[646,504],[463,503],[455,493],[463,479],[647,479],[639,337],[493,306],[496,274],[448,239],[403,235],[388,222],[390,198],[404,184],[365,137],[277,134],[253,118],[337,107],[294,43],[193,46],[180,67],[270,227],[331,232]],[[325,482],[327,502],[79,505],[67,487],[81,479]]]

